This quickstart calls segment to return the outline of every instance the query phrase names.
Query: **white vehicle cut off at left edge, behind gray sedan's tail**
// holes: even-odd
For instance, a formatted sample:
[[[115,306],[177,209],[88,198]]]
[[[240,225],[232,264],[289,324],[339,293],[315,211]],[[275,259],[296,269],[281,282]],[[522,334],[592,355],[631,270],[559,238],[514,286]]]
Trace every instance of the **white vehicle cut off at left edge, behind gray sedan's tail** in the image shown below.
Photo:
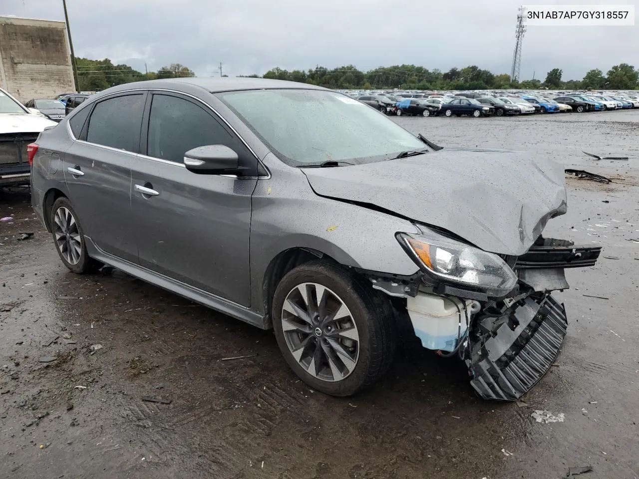
[[[0,88],[0,186],[28,185],[31,175],[29,143],[58,123],[29,110]]]

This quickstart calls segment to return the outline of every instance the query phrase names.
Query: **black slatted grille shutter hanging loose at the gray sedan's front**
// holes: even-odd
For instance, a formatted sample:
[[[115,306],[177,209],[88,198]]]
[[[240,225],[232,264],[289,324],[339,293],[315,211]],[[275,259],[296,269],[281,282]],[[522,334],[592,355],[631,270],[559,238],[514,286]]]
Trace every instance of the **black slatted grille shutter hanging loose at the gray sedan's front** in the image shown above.
[[[550,294],[528,296],[503,319],[470,337],[470,384],[484,399],[519,399],[550,369],[566,337],[566,311]]]

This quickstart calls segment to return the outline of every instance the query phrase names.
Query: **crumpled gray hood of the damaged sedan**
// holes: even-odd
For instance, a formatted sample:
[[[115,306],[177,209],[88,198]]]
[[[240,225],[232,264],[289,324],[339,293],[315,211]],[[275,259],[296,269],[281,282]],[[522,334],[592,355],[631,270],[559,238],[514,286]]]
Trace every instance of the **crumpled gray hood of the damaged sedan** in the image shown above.
[[[371,204],[499,254],[525,253],[549,218],[566,213],[564,168],[518,151],[445,148],[302,171],[318,195]]]

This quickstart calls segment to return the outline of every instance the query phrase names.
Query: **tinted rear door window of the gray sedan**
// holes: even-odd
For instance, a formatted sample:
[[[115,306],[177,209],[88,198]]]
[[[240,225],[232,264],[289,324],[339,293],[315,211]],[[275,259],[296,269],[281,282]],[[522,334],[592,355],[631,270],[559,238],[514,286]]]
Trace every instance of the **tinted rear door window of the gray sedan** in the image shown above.
[[[109,98],[95,105],[86,141],[111,148],[138,151],[144,95]]]

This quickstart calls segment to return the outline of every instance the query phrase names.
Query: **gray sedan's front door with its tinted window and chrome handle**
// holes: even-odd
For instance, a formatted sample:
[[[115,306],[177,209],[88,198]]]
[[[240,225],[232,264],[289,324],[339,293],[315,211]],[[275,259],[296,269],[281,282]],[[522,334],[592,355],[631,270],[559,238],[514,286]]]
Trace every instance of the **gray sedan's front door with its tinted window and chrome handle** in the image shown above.
[[[250,303],[249,233],[256,179],[188,171],[184,153],[224,144],[240,165],[257,158],[209,107],[153,93],[132,166],[131,206],[141,266],[242,306]]]

